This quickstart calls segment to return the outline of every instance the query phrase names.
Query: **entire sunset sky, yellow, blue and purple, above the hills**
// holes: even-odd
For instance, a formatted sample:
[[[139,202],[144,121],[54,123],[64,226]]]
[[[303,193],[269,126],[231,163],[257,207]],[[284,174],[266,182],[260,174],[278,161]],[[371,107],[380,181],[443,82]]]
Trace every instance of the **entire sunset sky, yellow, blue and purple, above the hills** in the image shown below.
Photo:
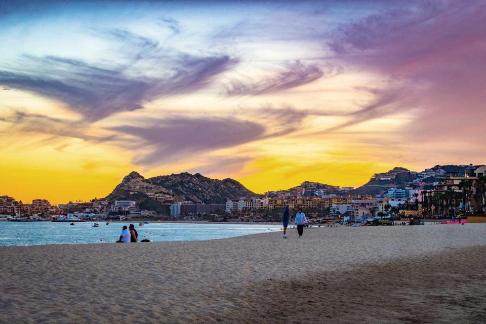
[[[486,163],[486,2],[0,1],[0,194]]]

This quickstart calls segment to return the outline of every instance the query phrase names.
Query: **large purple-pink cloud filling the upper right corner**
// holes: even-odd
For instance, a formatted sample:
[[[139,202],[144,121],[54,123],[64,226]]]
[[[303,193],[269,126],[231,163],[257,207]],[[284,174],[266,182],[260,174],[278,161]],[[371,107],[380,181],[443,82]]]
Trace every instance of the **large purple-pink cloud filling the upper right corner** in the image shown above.
[[[469,130],[486,116],[486,3],[428,2],[402,6],[342,25],[329,49],[344,66],[383,75],[376,98],[336,129],[400,111],[416,110],[409,127],[429,140]],[[454,116],[454,117],[451,117]],[[448,130],[444,132],[444,130]],[[465,135],[468,134],[468,135]]]

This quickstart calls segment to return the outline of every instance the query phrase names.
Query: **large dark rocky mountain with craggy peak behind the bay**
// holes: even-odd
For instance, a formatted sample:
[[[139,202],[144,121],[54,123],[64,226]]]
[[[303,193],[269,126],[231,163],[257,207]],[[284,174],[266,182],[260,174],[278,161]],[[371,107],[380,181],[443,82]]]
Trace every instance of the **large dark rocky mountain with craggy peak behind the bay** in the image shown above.
[[[230,178],[218,180],[184,172],[145,179],[133,171],[105,199],[135,200],[141,209],[160,211],[178,201],[224,204],[227,198],[253,196],[257,194]]]

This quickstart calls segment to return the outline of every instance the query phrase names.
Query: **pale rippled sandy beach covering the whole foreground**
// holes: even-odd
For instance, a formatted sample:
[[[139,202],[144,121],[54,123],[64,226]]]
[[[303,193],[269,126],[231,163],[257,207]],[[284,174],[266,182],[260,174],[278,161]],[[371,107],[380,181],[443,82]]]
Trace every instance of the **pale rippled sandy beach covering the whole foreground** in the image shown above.
[[[0,248],[0,322],[486,322],[486,224]]]

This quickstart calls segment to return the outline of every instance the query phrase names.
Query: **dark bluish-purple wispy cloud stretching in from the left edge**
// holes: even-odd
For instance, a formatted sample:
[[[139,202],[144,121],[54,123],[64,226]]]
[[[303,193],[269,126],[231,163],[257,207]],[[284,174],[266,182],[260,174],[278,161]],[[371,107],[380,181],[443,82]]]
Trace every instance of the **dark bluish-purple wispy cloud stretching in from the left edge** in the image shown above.
[[[100,66],[55,56],[25,56],[19,64],[0,70],[0,85],[53,98],[96,121],[140,109],[158,97],[202,89],[237,62],[227,55],[160,54],[157,42],[128,31],[110,30],[107,35],[127,48],[122,52],[129,56],[128,63]],[[130,68],[137,64],[155,67],[150,72],[158,70],[159,75],[133,76]]]

